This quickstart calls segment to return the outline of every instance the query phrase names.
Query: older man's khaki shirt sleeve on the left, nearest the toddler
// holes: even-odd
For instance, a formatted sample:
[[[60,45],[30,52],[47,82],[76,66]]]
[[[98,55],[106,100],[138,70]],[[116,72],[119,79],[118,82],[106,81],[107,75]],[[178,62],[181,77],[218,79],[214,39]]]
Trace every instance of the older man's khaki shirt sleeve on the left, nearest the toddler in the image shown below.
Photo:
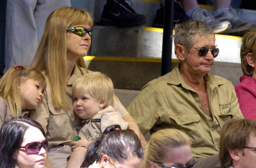
[[[145,85],[137,97],[127,107],[127,111],[145,135],[149,130],[164,120],[165,110],[161,96],[152,84]]]

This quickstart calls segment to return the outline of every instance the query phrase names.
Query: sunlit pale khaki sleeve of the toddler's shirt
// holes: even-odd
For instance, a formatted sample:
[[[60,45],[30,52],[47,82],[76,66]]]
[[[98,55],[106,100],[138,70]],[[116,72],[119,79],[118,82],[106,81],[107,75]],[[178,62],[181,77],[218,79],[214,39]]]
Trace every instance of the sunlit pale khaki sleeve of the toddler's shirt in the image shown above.
[[[101,115],[101,132],[110,125],[120,125],[122,130],[126,130],[129,123],[122,119],[119,112],[112,111]]]

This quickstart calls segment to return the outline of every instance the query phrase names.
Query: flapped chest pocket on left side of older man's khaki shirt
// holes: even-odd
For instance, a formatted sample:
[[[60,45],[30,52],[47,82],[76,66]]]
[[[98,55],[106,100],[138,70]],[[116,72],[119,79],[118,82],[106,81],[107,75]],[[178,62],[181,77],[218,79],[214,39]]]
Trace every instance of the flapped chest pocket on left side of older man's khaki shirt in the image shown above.
[[[177,129],[187,133],[192,142],[192,147],[203,146],[207,143],[204,136],[203,125],[200,122],[201,117],[199,114],[186,112],[176,115],[169,115],[171,119],[177,124]],[[207,127],[207,125],[205,125]]]

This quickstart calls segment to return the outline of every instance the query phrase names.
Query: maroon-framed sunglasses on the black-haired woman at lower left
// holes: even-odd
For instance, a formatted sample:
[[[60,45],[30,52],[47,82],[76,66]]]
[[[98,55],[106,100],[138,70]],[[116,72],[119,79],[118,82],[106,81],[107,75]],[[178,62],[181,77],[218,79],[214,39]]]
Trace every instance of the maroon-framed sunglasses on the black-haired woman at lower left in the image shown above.
[[[26,146],[19,146],[19,148],[24,148],[27,153],[34,154],[38,153],[42,147],[47,150],[48,148],[48,141],[45,140],[42,143],[41,142],[31,142],[28,143]]]

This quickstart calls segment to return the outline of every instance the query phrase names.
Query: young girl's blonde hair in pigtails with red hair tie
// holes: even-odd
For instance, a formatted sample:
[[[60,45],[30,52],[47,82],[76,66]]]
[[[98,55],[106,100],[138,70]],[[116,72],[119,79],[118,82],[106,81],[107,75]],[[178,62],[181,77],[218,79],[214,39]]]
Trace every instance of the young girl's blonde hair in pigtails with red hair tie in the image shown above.
[[[21,82],[26,82],[27,79],[38,81],[42,85],[43,91],[45,90],[45,77],[30,66],[23,66],[21,69],[14,69],[14,66],[11,66],[0,80],[0,96],[8,104],[11,117],[21,116],[21,96],[18,86]]]

